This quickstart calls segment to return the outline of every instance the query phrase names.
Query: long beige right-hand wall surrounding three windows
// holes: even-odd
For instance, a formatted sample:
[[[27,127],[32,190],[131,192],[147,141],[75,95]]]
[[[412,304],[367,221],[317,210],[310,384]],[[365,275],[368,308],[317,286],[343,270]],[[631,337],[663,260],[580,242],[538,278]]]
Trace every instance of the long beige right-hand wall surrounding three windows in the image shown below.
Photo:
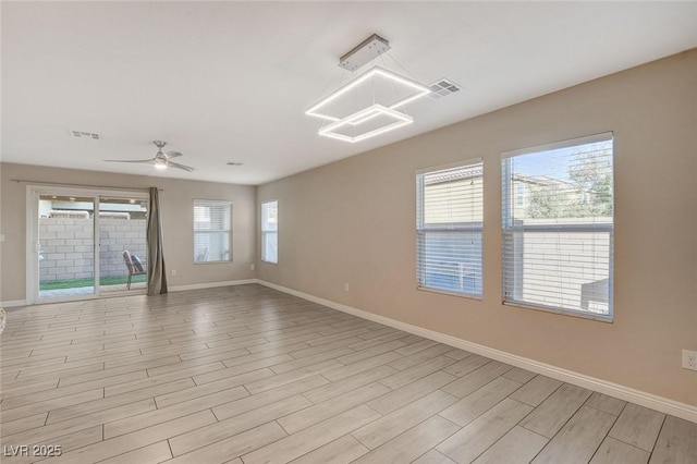
[[[500,154],[607,131],[614,322],[502,305]],[[417,291],[415,171],[476,157],[485,160],[484,301]],[[681,349],[697,350],[697,50],[262,185],[257,196],[279,200],[279,264],[260,262],[262,280],[697,405],[697,373],[681,368]]]

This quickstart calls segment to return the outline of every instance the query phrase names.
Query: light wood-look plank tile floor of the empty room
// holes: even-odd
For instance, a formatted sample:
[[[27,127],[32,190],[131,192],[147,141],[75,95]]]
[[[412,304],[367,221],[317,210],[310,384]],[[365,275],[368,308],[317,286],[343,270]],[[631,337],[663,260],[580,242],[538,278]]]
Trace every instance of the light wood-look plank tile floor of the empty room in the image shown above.
[[[0,350],[3,463],[697,463],[697,424],[256,284],[13,309]]]

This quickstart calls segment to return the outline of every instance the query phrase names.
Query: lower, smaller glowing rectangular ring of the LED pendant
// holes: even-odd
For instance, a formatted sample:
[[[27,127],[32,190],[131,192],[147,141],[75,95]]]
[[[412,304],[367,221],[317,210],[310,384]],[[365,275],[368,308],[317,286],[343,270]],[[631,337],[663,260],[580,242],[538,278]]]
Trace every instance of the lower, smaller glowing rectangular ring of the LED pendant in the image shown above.
[[[386,108],[382,105],[372,105],[323,126],[319,130],[319,135],[354,144],[412,122],[414,122],[414,118],[408,114]]]

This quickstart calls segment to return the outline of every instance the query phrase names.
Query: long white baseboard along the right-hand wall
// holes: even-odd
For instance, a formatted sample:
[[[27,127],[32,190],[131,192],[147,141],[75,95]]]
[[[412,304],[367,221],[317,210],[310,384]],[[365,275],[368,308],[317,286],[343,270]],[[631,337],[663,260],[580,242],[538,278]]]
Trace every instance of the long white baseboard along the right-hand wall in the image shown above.
[[[500,350],[494,350],[489,346],[468,342],[466,340],[462,340],[452,335],[436,332],[433,330],[424,329],[421,327],[413,326],[411,323],[402,322],[400,320],[390,319],[388,317],[368,313],[363,309],[357,309],[352,306],[346,306],[340,303],[334,303],[329,300],[309,295],[307,293],[298,292],[297,290],[277,285],[276,283],[267,282],[264,280],[257,280],[257,283],[271,289],[276,289],[278,291],[281,291],[294,296],[298,296],[304,300],[308,300],[314,303],[318,303],[323,306],[328,306],[332,309],[338,309],[340,312],[347,313],[364,319],[368,319],[374,322],[382,323],[384,326],[389,326],[394,329],[403,330],[405,332],[413,333],[415,335],[424,337],[426,339],[435,340],[437,342],[444,343],[454,347],[458,347],[461,350],[465,350],[470,353],[486,356],[491,359],[500,361],[502,363],[506,363],[512,366],[531,370],[533,373],[541,374],[543,376],[551,377],[553,379],[561,380],[563,382],[572,383],[577,387],[604,393],[610,396],[619,398],[621,400],[638,404],[640,406],[649,407],[651,410],[656,410],[661,413],[670,414],[672,416],[680,417],[685,420],[697,423],[697,406],[669,400],[667,398],[658,396],[640,390],[635,390],[629,387],[625,387],[617,383],[609,382],[607,380],[586,376],[584,374],[574,373],[573,370],[563,369],[561,367],[540,363],[535,359],[529,359],[527,357],[506,353]]]

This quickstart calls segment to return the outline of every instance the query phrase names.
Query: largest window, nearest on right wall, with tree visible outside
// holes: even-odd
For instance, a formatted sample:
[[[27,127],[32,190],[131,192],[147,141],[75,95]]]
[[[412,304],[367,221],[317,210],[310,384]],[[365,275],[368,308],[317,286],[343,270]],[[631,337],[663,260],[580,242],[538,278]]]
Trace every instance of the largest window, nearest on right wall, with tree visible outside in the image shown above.
[[[612,134],[503,154],[502,179],[504,303],[612,319]]]

